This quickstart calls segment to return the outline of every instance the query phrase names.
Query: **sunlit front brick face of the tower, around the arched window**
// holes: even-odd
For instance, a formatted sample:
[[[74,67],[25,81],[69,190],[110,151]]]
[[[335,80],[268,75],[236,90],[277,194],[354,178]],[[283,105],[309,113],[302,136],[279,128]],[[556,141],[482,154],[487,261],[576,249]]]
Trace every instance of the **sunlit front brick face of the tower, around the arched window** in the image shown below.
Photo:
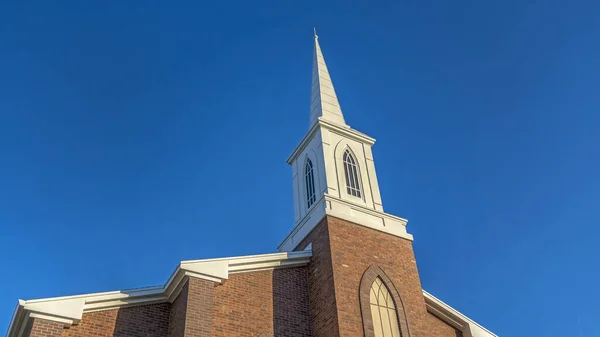
[[[327,222],[340,336],[362,333],[357,289],[371,265],[381,267],[398,289],[411,336],[427,336],[427,309],[412,242],[333,217]]]

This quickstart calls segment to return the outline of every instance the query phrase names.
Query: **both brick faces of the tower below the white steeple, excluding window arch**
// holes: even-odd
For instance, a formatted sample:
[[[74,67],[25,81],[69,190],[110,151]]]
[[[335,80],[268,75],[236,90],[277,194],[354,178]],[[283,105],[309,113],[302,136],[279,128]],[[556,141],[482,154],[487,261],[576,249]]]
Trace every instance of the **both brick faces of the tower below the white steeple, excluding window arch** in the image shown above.
[[[309,297],[315,337],[363,336],[358,289],[363,273],[373,265],[397,288],[411,337],[442,331],[427,313],[412,242],[330,216],[298,248],[311,242]]]

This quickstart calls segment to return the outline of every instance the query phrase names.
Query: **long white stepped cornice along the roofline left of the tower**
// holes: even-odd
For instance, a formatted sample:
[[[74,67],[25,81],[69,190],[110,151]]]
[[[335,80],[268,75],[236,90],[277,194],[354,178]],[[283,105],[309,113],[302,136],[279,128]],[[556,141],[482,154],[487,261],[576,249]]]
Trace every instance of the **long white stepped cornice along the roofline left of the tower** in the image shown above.
[[[43,318],[69,326],[77,324],[83,313],[132,305],[172,302],[189,277],[217,283],[230,274],[299,267],[308,264],[312,251],[261,254],[230,258],[182,261],[165,285],[133,290],[19,300],[7,337],[21,337],[30,317]]]

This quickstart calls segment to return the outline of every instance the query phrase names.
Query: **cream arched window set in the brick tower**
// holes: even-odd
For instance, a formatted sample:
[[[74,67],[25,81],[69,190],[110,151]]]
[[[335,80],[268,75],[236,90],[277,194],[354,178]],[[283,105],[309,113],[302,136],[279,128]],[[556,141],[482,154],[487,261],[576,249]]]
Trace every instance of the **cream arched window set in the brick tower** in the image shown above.
[[[370,294],[375,337],[401,337],[396,305],[389,290],[379,277],[373,282]]]

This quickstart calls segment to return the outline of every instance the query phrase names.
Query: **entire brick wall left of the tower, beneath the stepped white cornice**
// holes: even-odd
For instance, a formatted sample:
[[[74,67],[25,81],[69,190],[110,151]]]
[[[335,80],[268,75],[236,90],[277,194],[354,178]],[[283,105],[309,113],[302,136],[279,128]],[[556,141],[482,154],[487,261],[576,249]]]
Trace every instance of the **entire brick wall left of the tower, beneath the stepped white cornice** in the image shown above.
[[[83,314],[69,328],[30,321],[30,337],[310,337],[307,268],[230,275],[223,285],[189,278],[173,304]],[[27,335],[27,334],[26,334]]]

